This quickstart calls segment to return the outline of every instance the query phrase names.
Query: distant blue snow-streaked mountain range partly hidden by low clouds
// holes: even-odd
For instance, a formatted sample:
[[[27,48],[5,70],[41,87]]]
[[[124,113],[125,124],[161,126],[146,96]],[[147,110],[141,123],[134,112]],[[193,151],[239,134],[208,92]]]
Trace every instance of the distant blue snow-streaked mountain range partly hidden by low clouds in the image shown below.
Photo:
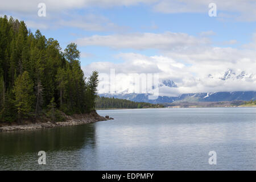
[[[208,75],[212,79],[226,80],[245,80],[254,78],[252,73],[246,73],[241,71],[236,73],[233,69],[228,69],[222,75]],[[159,88],[162,86],[168,86],[170,88],[177,88],[177,85],[173,80],[162,80],[159,83]],[[121,92],[116,94],[99,94],[104,97],[121,98],[135,102],[149,102],[151,104],[171,103],[174,101],[193,101],[193,102],[219,102],[219,101],[250,101],[256,99],[255,91],[236,91],[236,92],[203,92],[203,93],[185,93],[180,94],[177,97],[159,96],[156,100],[148,100],[148,93],[127,93]]]

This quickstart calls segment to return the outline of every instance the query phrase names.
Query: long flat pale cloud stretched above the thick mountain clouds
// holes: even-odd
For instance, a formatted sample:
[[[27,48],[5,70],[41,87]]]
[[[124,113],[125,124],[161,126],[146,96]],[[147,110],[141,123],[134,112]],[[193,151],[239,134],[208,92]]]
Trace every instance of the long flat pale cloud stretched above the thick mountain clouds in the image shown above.
[[[79,46],[108,46],[114,49],[176,49],[208,44],[207,38],[196,38],[184,33],[137,33],[124,35],[93,35],[76,40]]]

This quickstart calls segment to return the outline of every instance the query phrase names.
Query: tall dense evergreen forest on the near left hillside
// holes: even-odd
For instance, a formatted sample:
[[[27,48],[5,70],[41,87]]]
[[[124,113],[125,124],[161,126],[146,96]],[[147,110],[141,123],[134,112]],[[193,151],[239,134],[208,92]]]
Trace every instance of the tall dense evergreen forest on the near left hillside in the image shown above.
[[[94,110],[98,73],[84,77],[80,52],[71,43],[33,34],[23,21],[0,18],[0,122],[40,115],[61,118]]]

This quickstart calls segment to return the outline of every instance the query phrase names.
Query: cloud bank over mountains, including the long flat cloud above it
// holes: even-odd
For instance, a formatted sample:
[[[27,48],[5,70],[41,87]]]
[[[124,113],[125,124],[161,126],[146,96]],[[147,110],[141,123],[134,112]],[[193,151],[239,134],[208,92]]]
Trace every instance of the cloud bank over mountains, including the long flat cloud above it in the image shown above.
[[[254,38],[254,36],[253,36]],[[119,40],[119,41],[118,41]],[[84,42],[83,42],[84,41]],[[160,55],[145,56],[138,53],[116,55],[123,63],[97,62],[84,67],[85,72],[97,70],[100,73],[123,73],[117,81],[117,92],[133,87],[130,73],[158,73],[160,80],[171,79],[177,88],[160,88],[162,96],[177,96],[182,93],[233,92],[256,90],[256,51],[251,43],[246,48],[214,47],[209,39],[187,34],[167,32],[163,34],[92,36],[80,39],[82,46],[106,46],[114,49],[158,49]],[[247,47],[250,47],[247,48]],[[222,80],[228,69],[236,75],[245,72],[242,79]],[[131,89],[130,89],[131,90]],[[100,93],[104,90],[99,89]]]

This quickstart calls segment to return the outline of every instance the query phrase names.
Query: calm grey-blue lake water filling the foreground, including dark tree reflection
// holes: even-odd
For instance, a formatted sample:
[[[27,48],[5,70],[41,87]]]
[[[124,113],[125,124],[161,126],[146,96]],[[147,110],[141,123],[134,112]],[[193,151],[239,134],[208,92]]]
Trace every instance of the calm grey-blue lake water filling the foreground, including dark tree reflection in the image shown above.
[[[0,133],[0,169],[256,170],[256,108],[99,110],[114,120]],[[39,151],[46,165],[39,165]],[[210,165],[209,151],[217,164]]]

